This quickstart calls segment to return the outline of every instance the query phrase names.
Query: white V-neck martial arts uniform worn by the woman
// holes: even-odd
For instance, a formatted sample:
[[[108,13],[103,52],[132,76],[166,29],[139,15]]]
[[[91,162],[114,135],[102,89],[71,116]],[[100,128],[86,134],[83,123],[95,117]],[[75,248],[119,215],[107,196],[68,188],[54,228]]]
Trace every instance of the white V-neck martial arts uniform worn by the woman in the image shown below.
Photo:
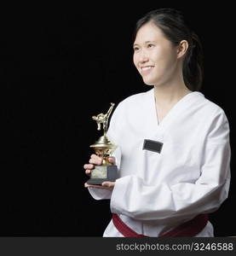
[[[229,125],[202,93],[182,97],[160,124],[154,89],[130,96],[112,114],[107,136],[118,145],[118,179],[112,192],[89,192],[111,199],[111,211],[136,233],[160,236],[227,199]],[[163,143],[161,152],[143,149],[145,139]],[[111,220],[103,236],[123,235]],[[210,222],[198,236],[214,236]]]

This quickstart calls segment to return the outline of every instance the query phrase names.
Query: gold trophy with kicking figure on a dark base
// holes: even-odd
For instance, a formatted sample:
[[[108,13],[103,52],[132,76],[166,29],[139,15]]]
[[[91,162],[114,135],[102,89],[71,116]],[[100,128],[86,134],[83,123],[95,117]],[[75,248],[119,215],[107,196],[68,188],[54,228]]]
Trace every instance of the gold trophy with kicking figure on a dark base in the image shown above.
[[[87,181],[88,184],[101,185],[101,183],[105,181],[115,181],[117,178],[118,167],[112,165],[108,161],[108,157],[111,156],[112,152],[117,148],[117,146],[112,144],[108,137],[106,137],[108,119],[115,104],[111,103],[111,105],[112,106],[109,108],[106,114],[100,113],[92,117],[92,119],[94,119],[97,123],[97,130],[100,131],[102,125],[104,133],[103,136],[101,136],[95,142],[95,144],[90,145],[90,148],[95,149],[95,154],[102,158],[102,163],[101,166],[95,166],[95,168],[91,170],[90,179]]]

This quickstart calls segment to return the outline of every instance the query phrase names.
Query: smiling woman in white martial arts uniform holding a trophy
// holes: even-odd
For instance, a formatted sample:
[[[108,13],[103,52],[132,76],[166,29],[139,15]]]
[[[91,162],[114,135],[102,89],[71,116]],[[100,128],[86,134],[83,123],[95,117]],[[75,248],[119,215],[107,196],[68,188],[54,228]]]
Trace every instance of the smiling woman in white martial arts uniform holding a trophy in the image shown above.
[[[157,9],[138,20],[134,64],[153,88],[112,114],[116,182],[85,183],[95,199],[111,199],[103,236],[214,236],[207,213],[227,199],[229,125],[198,91],[202,59],[199,38],[179,11]],[[100,164],[93,154],[84,169]]]

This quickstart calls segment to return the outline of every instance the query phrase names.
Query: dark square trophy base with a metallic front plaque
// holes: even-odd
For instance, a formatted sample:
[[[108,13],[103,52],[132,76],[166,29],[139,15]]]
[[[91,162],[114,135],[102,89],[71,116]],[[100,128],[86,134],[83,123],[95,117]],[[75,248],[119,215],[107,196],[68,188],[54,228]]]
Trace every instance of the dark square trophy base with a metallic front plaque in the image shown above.
[[[114,182],[117,179],[117,173],[118,166],[95,166],[87,183],[90,185],[101,185],[101,183],[106,181]]]

